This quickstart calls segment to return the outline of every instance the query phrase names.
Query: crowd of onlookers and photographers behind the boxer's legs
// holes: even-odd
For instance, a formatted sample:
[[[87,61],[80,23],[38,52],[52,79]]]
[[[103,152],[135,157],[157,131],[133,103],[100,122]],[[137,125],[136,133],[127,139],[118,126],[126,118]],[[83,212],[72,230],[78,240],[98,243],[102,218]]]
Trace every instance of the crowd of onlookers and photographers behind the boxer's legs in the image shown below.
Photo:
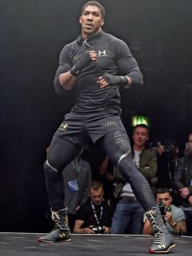
[[[133,162],[154,187],[155,201],[168,232],[192,236],[192,132],[182,157],[178,155],[174,139],[156,148],[147,143],[150,128],[145,124],[133,127],[132,138]],[[92,179],[93,171],[85,158],[82,148],[63,170],[64,205],[68,208],[70,231],[152,235],[151,223],[142,205],[109,157],[103,158],[98,175],[94,174],[97,180]],[[170,161],[172,165],[168,164]]]

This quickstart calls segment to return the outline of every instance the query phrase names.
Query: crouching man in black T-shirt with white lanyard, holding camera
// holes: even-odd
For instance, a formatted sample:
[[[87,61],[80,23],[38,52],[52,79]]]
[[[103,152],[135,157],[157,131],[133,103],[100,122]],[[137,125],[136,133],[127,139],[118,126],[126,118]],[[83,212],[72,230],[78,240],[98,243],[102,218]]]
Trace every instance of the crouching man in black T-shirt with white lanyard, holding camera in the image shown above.
[[[111,227],[111,209],[103,199],[103,184],[90,183],[89,200],[77,210],[73,229],[78,234],[109,234]]]

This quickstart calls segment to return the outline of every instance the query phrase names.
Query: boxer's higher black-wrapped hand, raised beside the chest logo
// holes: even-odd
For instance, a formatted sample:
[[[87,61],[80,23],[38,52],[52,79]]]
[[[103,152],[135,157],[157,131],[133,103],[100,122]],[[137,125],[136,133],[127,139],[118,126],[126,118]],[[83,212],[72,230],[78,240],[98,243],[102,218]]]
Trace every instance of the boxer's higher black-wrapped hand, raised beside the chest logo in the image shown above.
[[[95,51],[84,51],[81,59],[76,62],[76,64],[70,69],[70,73],[78,77],[78,74],[83,68],[89,66],[92,61],[97,60],[97,53]]]

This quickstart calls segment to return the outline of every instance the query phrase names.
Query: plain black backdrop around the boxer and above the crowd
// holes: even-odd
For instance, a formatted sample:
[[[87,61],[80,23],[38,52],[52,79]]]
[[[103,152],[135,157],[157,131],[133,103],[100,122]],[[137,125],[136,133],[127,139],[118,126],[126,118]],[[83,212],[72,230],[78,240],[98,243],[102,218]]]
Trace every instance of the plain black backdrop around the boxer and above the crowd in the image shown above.
[[[46,147],[74,96],[59,97],[53,78],[62,47],[81,32],[81,0],[0,1],[0,231],[44,232]],[[192,130],[192,1],[105,0],[103,30],[129,44],[144,86],[122,91],[124,126],[151,117],[151,139]],[[97,149],[89,155],[96,171]],[[99,154],[97,154],[98,156]]]

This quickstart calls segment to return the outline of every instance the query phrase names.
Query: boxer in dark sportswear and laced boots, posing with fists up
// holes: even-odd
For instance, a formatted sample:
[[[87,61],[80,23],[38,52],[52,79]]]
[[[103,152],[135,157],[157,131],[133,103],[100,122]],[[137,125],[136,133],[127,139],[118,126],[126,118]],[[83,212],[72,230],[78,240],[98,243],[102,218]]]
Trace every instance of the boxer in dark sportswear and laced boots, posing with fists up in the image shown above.
[[[67,209],[63,205],[62,170],[91,139],[107,153],[111,163],[132,186],[155,233],[150,253],[168,252],[175,246],[155,204],[151,188],[136,169],[128,135],[120,119],[119,86],[142,84],[142,73],[125,42],[104,33],[105,9],[89,1],[81,9],[81,35],[63,47],[55,74],[60,94],[73,87],[76,104],[56,131],[45,163],[46,187],[55,228],[39,241],[70,241]]]

